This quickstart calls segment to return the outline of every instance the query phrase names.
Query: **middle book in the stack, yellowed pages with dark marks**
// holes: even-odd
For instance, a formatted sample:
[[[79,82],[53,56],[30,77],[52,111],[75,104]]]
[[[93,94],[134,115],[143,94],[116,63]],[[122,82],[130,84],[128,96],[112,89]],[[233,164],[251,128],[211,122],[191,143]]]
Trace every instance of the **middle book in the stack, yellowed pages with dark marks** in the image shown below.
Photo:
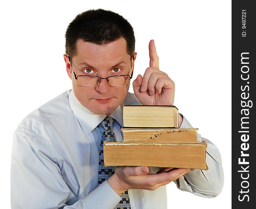
[[[186,129],[132,129],[122,128],[125,142],[197,143],[196,128]]]

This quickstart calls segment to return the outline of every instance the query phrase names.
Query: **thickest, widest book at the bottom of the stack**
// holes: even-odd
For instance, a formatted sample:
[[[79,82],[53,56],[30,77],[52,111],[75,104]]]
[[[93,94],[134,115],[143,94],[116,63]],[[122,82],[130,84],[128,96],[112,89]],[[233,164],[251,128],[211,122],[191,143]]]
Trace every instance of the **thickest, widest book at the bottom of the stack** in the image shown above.
[[[181,144],[104,141],[104,164],[208,170],[206,147],[205,141]]]

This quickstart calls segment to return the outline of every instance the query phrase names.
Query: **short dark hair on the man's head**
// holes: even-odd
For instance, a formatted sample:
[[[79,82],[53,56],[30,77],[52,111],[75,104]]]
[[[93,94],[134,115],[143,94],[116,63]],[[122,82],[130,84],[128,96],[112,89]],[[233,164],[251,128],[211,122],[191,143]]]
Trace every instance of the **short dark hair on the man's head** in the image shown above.
[[[67,27],[65,38],[66,54],[71,58],[76,55],[78,39],[103,45],[124,38],[127,53],[132,57],[135,52],[131,24],[123,16],[110,10],[90,9],[76,15]]]

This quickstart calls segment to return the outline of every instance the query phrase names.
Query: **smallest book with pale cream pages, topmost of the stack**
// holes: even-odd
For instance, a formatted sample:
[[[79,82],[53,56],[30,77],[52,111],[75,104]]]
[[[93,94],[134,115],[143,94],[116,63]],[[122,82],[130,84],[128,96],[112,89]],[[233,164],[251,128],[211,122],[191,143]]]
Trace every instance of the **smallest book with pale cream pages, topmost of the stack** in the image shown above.
[[[124,105],[124,128],[178,128],[178,108],[158,105]]]

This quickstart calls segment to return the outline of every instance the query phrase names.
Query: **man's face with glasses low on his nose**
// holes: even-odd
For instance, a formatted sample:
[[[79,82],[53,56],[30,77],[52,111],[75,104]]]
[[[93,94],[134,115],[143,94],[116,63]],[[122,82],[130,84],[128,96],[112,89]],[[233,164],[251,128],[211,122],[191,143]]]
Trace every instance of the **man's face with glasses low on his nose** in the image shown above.
[[[90,75],[106,78],[115,75],[131,75],[133,62],[126,52],[126,41],[120,38],[105,45],[97,45],[79,39],[77,53],[71,60],[76,76]],[[124,86],[110,86],[107,79],[101,79],[97,86],[86,87],[78,84],[71,71],[67,56],[66,69],[72,79],[73,91],[78,101],[96,114],[112,113],[125,99],[130,82]],[[78,77],[80,79],[81,77]]]

